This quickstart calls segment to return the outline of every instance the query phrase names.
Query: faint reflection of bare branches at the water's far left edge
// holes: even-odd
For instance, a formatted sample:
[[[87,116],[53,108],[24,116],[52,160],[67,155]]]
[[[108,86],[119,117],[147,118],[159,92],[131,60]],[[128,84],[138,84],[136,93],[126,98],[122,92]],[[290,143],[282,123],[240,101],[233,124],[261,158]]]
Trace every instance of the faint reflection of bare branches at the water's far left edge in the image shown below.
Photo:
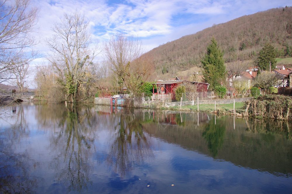
[[[10,122],[10,128],[1,129],[0,132],[0,191],[1,193],[34,193],[37,186],[36,177],[30,176],[29,172],[36,162],[30,157],[28,151],[14,153],[15,146],[29,132],[24,109],[19,106],[16,112],[14,106],[12,112],[15,115]],[[11,115],[6,116],[11,117]]]

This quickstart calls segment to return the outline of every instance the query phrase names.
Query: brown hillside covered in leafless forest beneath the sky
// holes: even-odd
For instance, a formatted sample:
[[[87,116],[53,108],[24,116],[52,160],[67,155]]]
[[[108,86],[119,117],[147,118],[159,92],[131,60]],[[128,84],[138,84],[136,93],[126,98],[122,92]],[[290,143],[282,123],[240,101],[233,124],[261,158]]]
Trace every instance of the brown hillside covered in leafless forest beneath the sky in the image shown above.
[[[200,66],[212,37],[223,49],[225,63],[253,59],[268,42],[277,50],[277,56],[291,56],[292,7],[244,15],[154,48],[149,53],[157,74],[175,74]]]

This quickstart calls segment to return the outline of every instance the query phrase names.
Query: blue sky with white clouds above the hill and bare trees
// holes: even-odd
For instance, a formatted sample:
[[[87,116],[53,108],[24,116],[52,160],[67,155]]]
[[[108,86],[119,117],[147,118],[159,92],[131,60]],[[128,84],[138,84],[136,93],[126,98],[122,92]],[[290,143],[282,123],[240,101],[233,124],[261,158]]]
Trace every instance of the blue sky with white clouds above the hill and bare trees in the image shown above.
[[[49,48],[45,39],[53,35],[51,27],[64,13],[76,10],[89,20],[94,42],[102,49],[119,32],[139,37],[149,51],[161,44],[196,33],[214,24],[270,8],[292,6],[291,0],[32,0],[39,8],[34,36],[39,44],[35,66],[46,61]],[[102,53],[97,60],[103,60]],[[34,66],[33,65],[33,66]]]

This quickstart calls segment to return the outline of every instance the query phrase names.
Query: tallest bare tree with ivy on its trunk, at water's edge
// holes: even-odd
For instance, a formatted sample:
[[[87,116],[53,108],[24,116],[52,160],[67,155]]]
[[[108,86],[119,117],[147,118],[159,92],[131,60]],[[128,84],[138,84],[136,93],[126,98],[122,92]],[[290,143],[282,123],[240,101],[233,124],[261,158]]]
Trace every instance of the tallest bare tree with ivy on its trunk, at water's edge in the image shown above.
[[[57,82],[64,87],[68,101],[76,102],[81,85],[87,82],[88,68],[98,54],[97,46],[89,48],[88,22],[77,11],[70,15],[65,13],[52,30],[55,34],[47,40],[52,51],[48,60],[58,73]]]

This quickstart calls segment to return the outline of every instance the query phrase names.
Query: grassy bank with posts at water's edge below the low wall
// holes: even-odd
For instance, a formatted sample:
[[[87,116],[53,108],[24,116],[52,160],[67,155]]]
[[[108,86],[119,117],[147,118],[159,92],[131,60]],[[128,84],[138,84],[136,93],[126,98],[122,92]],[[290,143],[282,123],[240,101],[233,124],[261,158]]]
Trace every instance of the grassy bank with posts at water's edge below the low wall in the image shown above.
[[[236,102],[235,103],[235,110],[237,113],[242,113],[244,109],[244,102]],[[189,110],[189,111],[197,111],[197,105],[187,105],[182,106],[173,106],[169,107],[168,109],[171,110]],[[215,111],[215,104],[199,104],[199,111],[202,112],[214,112]],[[233,103],[231,104],[216,104],[216,112],[225,113],[225,114],[232,114],[233,113]]]

